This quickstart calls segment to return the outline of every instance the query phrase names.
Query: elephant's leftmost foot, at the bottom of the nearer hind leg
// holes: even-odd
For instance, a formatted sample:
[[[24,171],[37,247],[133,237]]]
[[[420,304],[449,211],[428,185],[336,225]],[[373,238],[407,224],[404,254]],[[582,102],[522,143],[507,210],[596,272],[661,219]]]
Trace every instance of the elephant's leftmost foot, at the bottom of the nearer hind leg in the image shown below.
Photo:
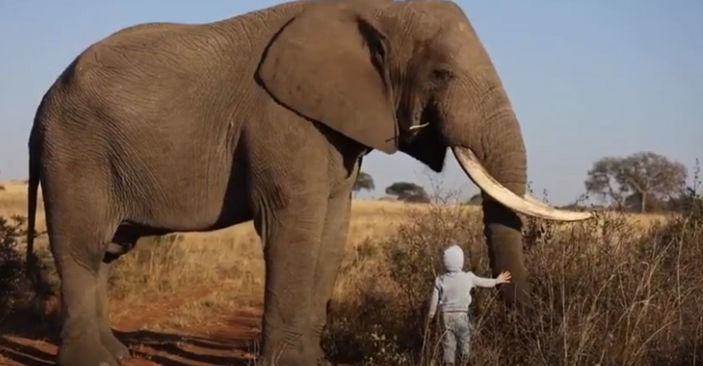
[[[64,340],[56,358],[58,366],[118,366],[117,360],[96,336]]]

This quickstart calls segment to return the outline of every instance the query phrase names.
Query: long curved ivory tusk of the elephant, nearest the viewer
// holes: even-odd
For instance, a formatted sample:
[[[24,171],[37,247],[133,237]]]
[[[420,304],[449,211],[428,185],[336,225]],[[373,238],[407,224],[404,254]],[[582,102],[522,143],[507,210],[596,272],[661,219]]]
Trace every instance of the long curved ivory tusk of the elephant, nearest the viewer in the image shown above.
[[[451,151],[454,153],[456,160],[459,162],[459,165],[466,175],[469,176],[469,179],[486,192],[486,194],[502,203],[505,207],[524,215],[541,217],[546,220],[580,221],[593,217],[591,213],[579,213],[576,211],[553,208],[531,197],[529,194],[520,197],[512,193],[510,189],[503,187],[503,184],[498,182],[494,177],[491,177],[471,149],[454,146],[451,148]]]

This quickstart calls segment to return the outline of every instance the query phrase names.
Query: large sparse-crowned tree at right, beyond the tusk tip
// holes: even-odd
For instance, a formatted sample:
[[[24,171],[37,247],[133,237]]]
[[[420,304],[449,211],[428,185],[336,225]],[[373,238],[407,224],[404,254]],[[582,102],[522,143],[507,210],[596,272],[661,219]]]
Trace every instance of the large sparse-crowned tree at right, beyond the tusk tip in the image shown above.
[[[646,212],[650,201],[664,203],[678,197],[685,187],[683,164],[652,152],[624,158],[607,156],[593,163],[584,182],[586,190],[610,198],[621,207]]]

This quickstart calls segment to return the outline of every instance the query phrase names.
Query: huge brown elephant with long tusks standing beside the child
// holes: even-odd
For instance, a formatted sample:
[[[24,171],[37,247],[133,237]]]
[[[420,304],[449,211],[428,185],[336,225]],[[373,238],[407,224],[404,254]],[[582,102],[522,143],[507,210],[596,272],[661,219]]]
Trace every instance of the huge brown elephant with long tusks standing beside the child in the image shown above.
[[[373,150],[441,172],[451,149],[482,190],[491,270],[512,272],[508,304],[529,294],[518,213],[591,217],[525,194],[517,117],[452,1],[291,1],[118,30],[51,84],[28,148],[29,232],[41,184],[60,275],[60,366],[129,359],[107,281],[140,237],[249,220],[265,263],[258,364],[328,364],[326,305]]]

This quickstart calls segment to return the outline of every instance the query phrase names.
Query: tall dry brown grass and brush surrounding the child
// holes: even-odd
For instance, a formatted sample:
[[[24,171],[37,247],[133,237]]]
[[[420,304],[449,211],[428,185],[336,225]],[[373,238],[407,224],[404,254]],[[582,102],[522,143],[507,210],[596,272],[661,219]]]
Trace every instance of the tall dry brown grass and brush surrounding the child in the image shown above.
[[[529,312],[475,290],[475,365],[703,365],[703,203],[648,229],[625,213],[560,223],[523,218]],[[413,208],[408,208],[413,210]],[[370,365],[441,365],[441,329],[423,318],[440,256],[465,250],[465,270],[490,276],[480,213],[433,203],[395,236],[367,241],[344,263],[324,346]],[[506,316],[509,315],[509,316]]]

